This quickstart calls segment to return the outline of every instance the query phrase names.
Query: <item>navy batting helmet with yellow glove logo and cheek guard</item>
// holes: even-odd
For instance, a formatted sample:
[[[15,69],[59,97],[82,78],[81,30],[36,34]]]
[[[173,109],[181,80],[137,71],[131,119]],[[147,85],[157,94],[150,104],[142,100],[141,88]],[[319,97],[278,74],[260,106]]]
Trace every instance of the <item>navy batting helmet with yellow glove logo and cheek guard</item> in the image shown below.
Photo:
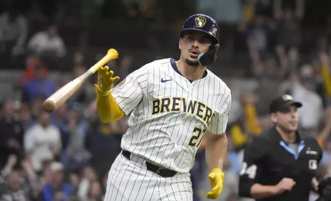
[[[212,45],[208,52],[201,53],[198,56],[198,62],[201,66],[213,64],[216,61],[219,49],[219,29],[216,21],[208,15],[194,14],[186,20],[180,32],[180,37],[182,38],[188,31],[201,31],[211,36]]]

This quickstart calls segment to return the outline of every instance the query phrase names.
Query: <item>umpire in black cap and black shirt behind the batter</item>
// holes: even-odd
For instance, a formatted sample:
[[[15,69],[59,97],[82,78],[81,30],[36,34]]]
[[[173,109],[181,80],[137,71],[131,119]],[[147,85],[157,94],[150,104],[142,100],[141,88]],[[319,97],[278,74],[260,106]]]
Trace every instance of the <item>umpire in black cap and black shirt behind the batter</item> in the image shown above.
[[[321,147],[309,133],[298,130],[297,109],[290,95],[272,100],[274,126],[255,137],[244,150],[239,194],[255,200],[308,201],[318,190],[315,178]]]

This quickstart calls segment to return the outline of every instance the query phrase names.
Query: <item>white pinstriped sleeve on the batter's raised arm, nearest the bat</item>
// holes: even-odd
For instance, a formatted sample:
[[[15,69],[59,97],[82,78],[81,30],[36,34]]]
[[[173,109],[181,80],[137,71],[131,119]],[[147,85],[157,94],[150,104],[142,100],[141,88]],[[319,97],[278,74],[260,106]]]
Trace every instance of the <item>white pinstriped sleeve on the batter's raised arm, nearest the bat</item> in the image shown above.
[[[112,95],[125,115],[130,114],[140,103],[142,99],[141,83],[146,81],[147,73],[145,68],[138,69],[112,89]]]

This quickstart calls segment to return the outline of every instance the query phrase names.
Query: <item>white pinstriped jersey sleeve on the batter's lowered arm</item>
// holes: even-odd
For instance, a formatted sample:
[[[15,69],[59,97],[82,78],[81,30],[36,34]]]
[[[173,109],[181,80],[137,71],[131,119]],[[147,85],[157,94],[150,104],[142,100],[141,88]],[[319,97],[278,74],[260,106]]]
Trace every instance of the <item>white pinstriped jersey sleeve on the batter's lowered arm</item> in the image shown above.
[[[228,117],[231,107],[231,93],[230,89],[226,90],[223,98],[220,101],[219,114],[212,118],[208,126],[208,130],[213,134],[222,134],[225,132],[228,124]]]

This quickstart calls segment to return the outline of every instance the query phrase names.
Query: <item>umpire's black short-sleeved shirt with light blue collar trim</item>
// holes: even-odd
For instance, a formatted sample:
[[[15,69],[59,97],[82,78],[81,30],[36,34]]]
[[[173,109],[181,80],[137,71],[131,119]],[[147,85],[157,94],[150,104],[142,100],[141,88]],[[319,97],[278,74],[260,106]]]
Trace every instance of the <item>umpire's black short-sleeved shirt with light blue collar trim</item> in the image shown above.
[[[267,197],[264,201],[308,201],[311,179],[316,175],[322,149],[309,133],[297,131],[296,145],[286,144],[275,127],[263,131],[244,150],[240,172],[239,194],[251,197],[251,187],[277,185],[282,178],[292,178],[296,185],[291,191]],[[297,148],[297,151],[293,150]]]

